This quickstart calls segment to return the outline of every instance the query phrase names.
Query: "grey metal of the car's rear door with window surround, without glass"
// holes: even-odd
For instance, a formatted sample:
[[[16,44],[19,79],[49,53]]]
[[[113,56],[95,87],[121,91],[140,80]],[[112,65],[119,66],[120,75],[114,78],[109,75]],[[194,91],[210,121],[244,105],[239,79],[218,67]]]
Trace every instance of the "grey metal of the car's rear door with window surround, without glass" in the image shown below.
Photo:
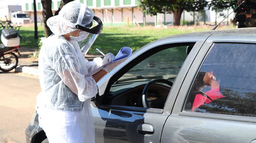
[[[184,101],[201,63],[214,42],[255,43],[256,34],[213,34],[194,60],[178,93],[173,112],[163,129],[161,142],[245,143],[256,139],[255,117],[185,112]]]

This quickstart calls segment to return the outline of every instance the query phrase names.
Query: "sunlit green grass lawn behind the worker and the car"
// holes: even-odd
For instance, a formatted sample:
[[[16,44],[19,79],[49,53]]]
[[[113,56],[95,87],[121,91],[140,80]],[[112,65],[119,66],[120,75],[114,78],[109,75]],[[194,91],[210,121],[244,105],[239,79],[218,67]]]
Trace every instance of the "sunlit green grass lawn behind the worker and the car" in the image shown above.
[[[133,51],[141,48],[142,46],[163,38],[165,36],[184,34],[189,32],[198,32],[210,30],[213,27],[209,26],[180,26],[168,28],[155,28],[155,27],[104,27],[102,33],[98,36],[93,43],[92,48],[89,50],[89,55],[100,55],[95,48],[99,48],[104,53],[111,52],[114,55],[123,46],[129,46]],[[234,28],[234,27],[221,27],[221,29]],[[24,26],[19,30],[22,36],[20,41],[21,48],[38,48],[38,40],[34,39],[34,27]],[[44,29],[42,26],[38,27],[38,36],[44,36]]]

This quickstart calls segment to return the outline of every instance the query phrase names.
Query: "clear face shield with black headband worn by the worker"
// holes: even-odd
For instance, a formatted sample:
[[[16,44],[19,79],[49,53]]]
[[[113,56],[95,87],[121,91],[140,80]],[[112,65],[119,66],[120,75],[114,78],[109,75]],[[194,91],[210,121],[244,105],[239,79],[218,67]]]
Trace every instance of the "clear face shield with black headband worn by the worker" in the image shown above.
[[[85,27],[78,24],[76,25],[76,28],[89,33],[84,40],[78,41],[78,45],[80,46],[83,55],[85,55],[91,48],[98,35],[101,33],[103,24],[98,17],[94,16],[91,24],[86,25]]]

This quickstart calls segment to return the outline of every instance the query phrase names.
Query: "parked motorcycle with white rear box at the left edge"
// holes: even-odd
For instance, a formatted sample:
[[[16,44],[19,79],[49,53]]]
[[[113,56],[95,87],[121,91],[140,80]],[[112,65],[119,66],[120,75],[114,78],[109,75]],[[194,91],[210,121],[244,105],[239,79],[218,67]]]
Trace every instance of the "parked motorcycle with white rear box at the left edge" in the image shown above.
[[[0,70],[10,71],[17,67],[18,57],[15,53],[17,52],[20,56],[20,36],[18,32],[13,28],[3,29],[1,31],[0,44]]]

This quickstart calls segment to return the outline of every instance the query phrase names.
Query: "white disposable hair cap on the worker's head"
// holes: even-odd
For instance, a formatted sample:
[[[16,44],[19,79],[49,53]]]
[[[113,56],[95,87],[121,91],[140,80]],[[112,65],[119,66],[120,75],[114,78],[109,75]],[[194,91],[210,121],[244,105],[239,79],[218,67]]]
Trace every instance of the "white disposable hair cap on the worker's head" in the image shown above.
[[[59,15],[50,17],[47,20],[47,26],[55,35],[64,35],[78,30],[77,24],[83,27],[89,27],[94,13],[84,4],[71,1],[67,3],[59,12]]]

